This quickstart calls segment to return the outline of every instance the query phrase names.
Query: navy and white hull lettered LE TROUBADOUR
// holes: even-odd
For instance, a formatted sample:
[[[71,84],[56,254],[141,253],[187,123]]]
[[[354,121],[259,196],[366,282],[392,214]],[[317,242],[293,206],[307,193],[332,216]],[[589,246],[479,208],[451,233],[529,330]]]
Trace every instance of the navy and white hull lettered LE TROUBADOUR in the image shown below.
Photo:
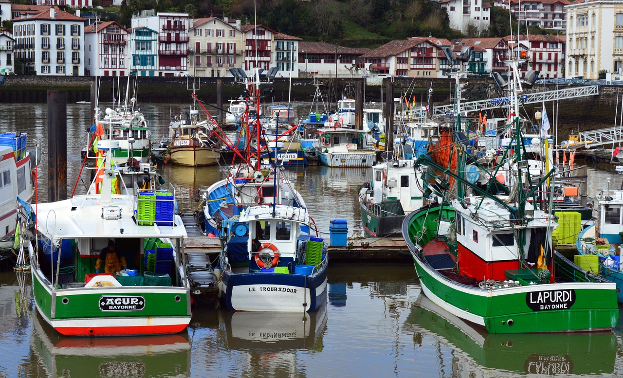
[[[223,300],[236,311],[316,311],[326,302],[326,268],[316,276],[282,273],[223,274]]]

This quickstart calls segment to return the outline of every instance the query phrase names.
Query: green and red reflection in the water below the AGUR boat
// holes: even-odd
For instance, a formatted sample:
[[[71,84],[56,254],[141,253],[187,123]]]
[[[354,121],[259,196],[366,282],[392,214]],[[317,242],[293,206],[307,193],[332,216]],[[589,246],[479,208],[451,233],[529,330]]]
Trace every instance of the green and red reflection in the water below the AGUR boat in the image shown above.
[[[69,338],[39,314],[31,350],[49,377],[189,377],[188,333],[123,338]]]

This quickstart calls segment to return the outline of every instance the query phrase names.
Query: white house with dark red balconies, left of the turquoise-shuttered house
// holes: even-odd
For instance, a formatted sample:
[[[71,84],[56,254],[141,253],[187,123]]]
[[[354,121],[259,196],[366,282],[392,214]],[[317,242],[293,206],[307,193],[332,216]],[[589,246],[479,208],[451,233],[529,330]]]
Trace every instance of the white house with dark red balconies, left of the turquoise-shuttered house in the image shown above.
[[[129,32],[117,21],[98,21],[84,29],[85,75],[126,76]]]

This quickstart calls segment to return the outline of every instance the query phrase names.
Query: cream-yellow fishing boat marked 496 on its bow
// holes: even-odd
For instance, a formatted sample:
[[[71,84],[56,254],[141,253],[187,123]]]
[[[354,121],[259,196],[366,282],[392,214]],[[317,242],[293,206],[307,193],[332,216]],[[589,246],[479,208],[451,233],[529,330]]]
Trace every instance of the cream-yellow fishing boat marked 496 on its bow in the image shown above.
[[[212,136],[214,120],[199,120],[199,110],[193,97],[189,118],[179,116],[169,124],[168,156],[171,163],[181,166],[209,166],[217,164],[221,158],[217,146],[218,139]]]

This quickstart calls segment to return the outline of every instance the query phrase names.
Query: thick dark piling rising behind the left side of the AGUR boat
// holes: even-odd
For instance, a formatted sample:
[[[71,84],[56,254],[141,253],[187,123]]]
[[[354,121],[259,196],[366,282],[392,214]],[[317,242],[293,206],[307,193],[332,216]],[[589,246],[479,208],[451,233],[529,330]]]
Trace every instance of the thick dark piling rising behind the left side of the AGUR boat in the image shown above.
[[[50,202],[67,199],[67,91],[47,91],[47,176]]]

